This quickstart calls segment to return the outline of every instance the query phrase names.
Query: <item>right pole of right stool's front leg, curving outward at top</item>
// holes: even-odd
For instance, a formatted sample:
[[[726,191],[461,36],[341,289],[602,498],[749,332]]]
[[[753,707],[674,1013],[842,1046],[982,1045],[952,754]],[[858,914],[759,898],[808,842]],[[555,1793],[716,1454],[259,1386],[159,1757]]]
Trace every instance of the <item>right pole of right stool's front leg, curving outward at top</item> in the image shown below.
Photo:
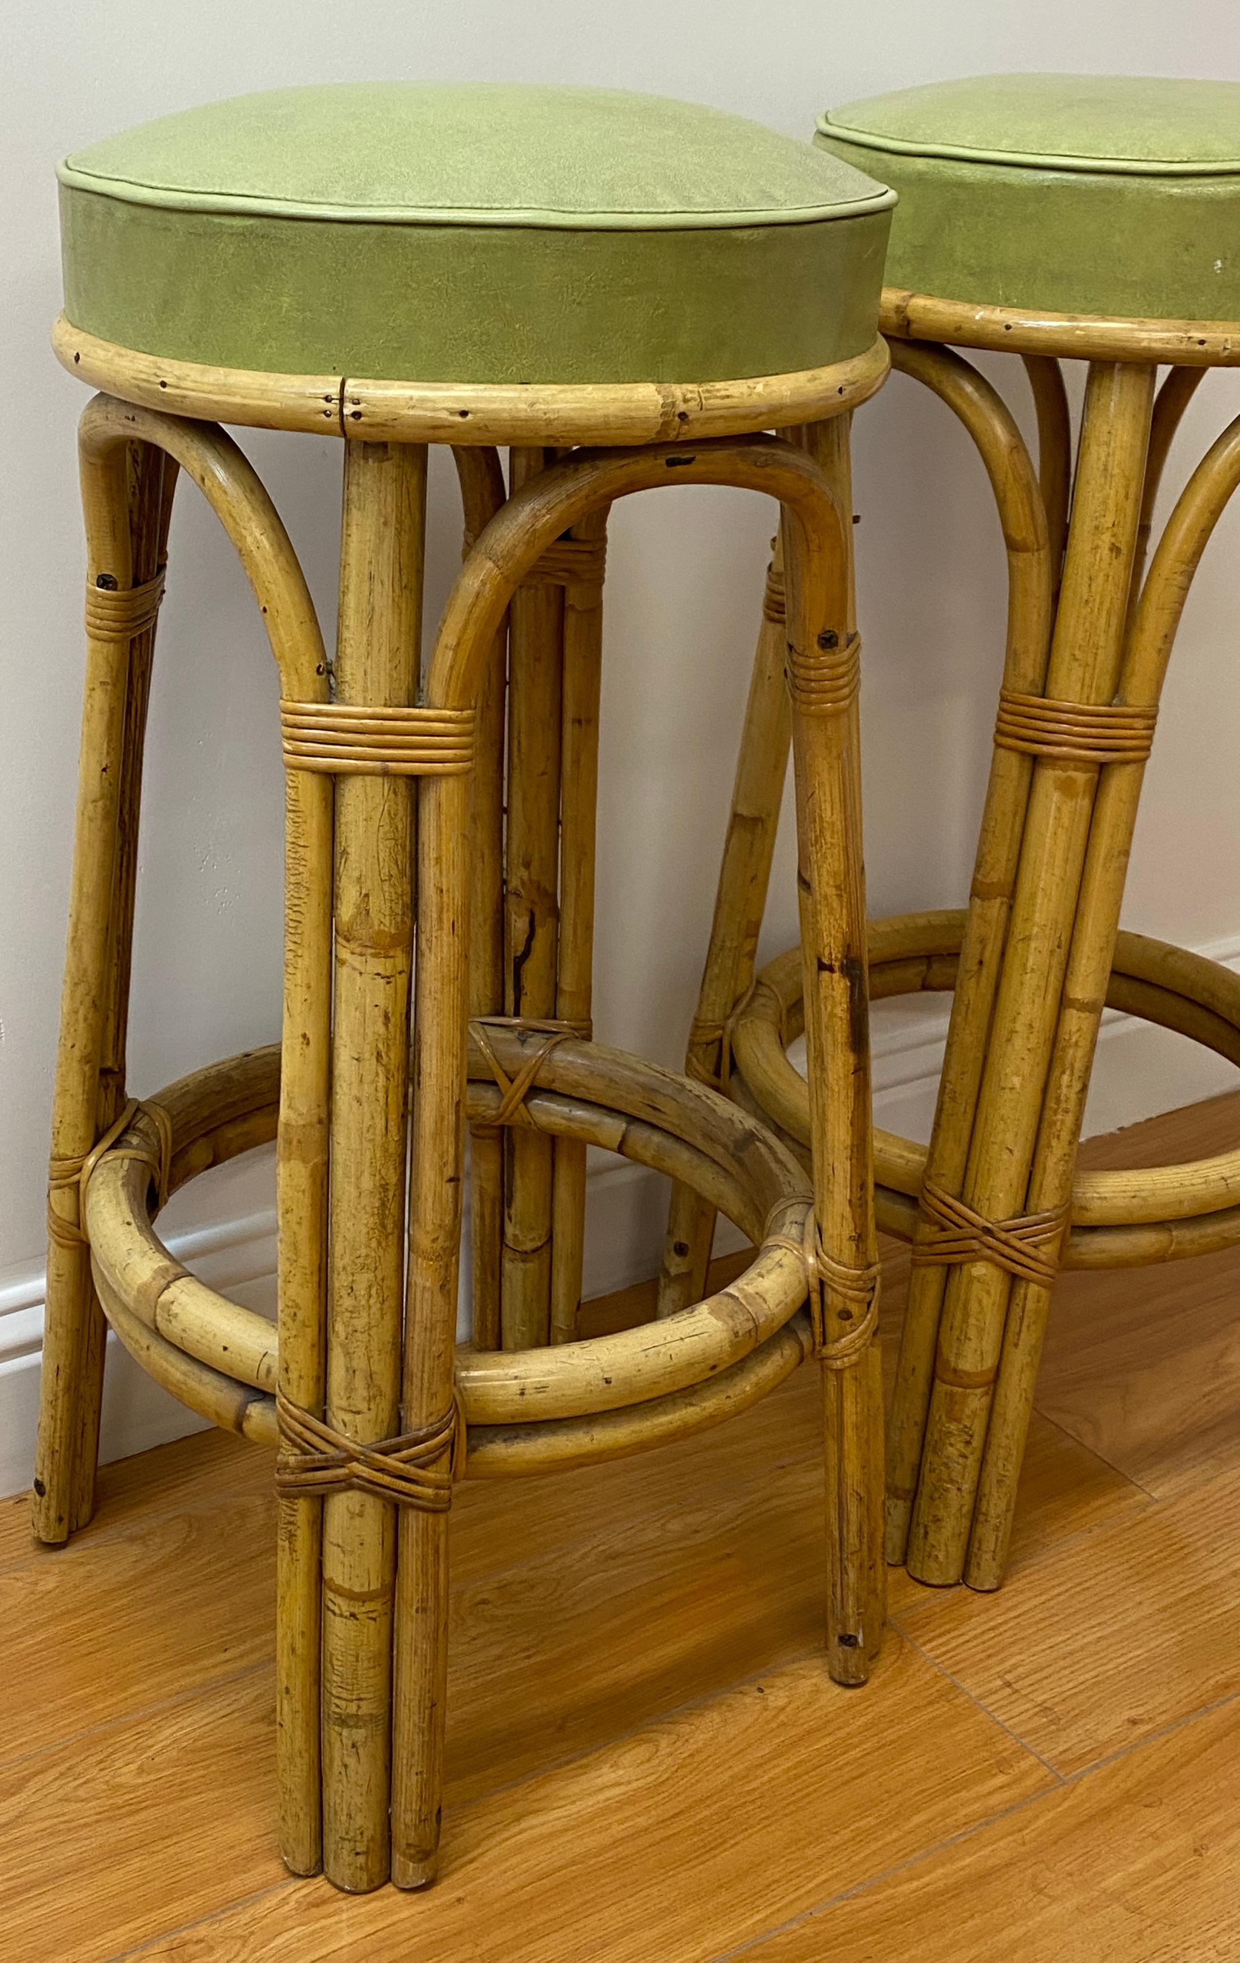
[[[1193,383],[1187,381],[1171,389],[1175,373],[1163,383],[1158,400],[1138,554],[1148,540],[1158,477],[1173,428],[1193,395]],[[1150,577],[1140,599],[1132,605],[1118,683],[1118,695],[1124,703],[1158,707],[1193,573],[1238,483],[1240,424],[1232,424],[1183,491],[1154,557]],[[1134,565],[1134,585],[1138,571],[1140,567]],[[1109,764],[1101,775],[1063,980],[1048,1097],[1030,1176],[1030,1209],[1056,1207],[1071,1197],[1077,1139],[1118,938],[1124,875],[1142,779],[1144,762]],[[1018,1282],[1012,1290],[969,1537],[965,1578],[973,1588],[999,1588],[1003,1580],[1048,1307],[1050,1292],[1046,1288]]]

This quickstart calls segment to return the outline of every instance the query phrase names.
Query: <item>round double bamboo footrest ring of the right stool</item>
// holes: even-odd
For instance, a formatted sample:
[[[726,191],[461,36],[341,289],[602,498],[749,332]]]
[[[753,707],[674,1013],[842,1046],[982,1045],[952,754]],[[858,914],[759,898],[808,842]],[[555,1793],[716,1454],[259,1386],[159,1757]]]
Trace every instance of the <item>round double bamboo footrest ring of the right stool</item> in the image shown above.
[[[869,923],[873,1001],[950,991],[963,911],[908,913]],[[1122,932],[1107,1007],[1175,1031],[1240,1066],[1240,976],[1185,948]],[[787,1050],[802,1033],[801,952],[769,964],[730,1025],[732,1095],[773,1125],[791,1150],[808,1146],[808,1088]],[[879,1227],[912,1239],[926,1146],[875,1131]],[[1134,1268],[1185,1260],[1240,1243],[1240,1148],[1181,1166],[1077,1172],[1065,1268]]]

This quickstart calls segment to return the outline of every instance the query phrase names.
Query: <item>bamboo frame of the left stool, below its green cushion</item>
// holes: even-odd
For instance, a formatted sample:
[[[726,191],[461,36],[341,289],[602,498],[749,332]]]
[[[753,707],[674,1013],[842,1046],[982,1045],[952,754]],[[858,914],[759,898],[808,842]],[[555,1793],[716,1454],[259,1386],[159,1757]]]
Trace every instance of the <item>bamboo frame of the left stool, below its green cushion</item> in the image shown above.
[[[852,363],[765,383],[520,391],[196,369],[67,322],[57,353],[108,393],[80,426],[88,650],[35,1531],[57,1543],[90,1517],[108,1325],[190,1407],[279,1443],[283,1855],[349,1890],[388,1875],[422,1886],[439,1841],[453,1476],[583,1464],[687,1435],[814,1354],[828,1665],[863,1682],[877,1655],[857,646],[836,485],[850,412],[883,383],[887,351],[877,342]],[[281,518],[218,420],[345,438],[334,669]],[[804,440],[763,434],[771,426]],[[457,453],[475,542],[420,689],[432,442]],[[496,442],[606,448],[573,450],[500,503]],[[141,740],[179,473],[222,520],[281,675],[284,1017],[279,1062],[253,1052],[139,1103],[126,1086],[126,1011]],[[808,1040],[816,1058],[848,1056],[816,1074],[812,1190],[773,1135],[712,1089],[567,1023],[494,1013],[504,620],[565,534],[589,540],[616,499],[667,483],[748,487],[781,506]],[[593,840],[589,758],[583,785]],[[479,811],[491,842],[475,854]],[[610,1146],[689,1182],[755,1243],[751,1268],[675,1323],[553,1349],[457,1349],[471,1121],[483,1135],[551,1135],[579,1154]],[[179,1184],[273,1135],[275,1331],[188,1276],[151,1225]],[[302,1419],[328,1431],[318,1457],[300,1443]]]

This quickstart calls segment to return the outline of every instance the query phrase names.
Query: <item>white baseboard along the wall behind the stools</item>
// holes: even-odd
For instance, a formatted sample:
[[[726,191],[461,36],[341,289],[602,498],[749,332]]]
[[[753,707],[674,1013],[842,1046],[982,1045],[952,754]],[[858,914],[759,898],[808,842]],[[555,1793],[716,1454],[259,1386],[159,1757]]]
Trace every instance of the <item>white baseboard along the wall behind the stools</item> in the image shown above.
[[[1201,948],[1240,972],[1240,938]],[[914,995],[875,1005],[875,1121],[910,1139],[928,1139],[948,1031],[948,997]],[[1130,1015],[1107,1011],[1099,1036],[1085,1135],[1118,1131],[1236,1086],[1220,1056]],[[241,1172],[241,1164],[230,1168]],[[243,1178],[232,1180],[222,1217],[167,1235],[173,1254],[210,1288],[275,1313],[275,1211],[267,1201],[271,1152],[255,1152]],[[653,1274],[663,1245],[667,1195],[642,1166],[593,1154],[587,1199],[587,1296],[606,1296]],[[722,1223],[716,1247],[740,1247]],[[463,1276],[467,1300],[469,1276]],[[43,1270],[29,1266],[0,1278],[0,1496],[29,1484],[33,1462],[39,1353],[43,1343]],[[204,1429],[202,1419],[159,1390],[116,1339],[108,1345],[102,1457],[128,1459],[167,1439]]]

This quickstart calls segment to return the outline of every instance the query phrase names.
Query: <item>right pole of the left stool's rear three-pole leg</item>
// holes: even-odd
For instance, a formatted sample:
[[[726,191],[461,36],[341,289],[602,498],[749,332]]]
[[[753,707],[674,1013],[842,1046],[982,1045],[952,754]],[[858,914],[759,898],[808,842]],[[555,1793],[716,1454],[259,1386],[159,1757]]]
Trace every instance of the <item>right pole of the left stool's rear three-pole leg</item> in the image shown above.
[[[604,540],[606,510],[573,538]],[[563,589],[559,793],[559,948],[555,1017],[591,1031],[594,995],[594,826],[598,807],[598,699],[602,691],[602,583]],[[585,1264],[585,1144],[557,1139],[551,1170],[551,1343],[573,1343]]]

